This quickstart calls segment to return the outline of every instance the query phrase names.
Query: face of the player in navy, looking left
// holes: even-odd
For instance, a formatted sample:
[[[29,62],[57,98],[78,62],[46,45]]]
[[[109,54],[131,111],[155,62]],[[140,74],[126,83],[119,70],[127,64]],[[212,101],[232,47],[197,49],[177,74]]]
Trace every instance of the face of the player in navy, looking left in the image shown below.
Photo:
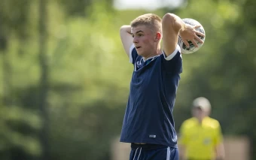
[[[139,25],[132,27],[133,44],[135,45],[136,51],[140,56],[147,58],[154,53],[156,48],[156,35],[154,32],[145,25]]]

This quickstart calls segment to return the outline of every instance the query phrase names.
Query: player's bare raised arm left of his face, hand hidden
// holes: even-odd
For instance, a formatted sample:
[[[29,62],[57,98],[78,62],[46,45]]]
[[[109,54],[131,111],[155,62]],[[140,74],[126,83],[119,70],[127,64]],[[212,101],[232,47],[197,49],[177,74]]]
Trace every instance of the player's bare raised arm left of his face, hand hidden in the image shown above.
[[[120,38],[123,44],[123,49],[125,50],[127,56],[129,57],[130,47],[133,44],[133,37],[131,35],[131,26],[120,27]]]

